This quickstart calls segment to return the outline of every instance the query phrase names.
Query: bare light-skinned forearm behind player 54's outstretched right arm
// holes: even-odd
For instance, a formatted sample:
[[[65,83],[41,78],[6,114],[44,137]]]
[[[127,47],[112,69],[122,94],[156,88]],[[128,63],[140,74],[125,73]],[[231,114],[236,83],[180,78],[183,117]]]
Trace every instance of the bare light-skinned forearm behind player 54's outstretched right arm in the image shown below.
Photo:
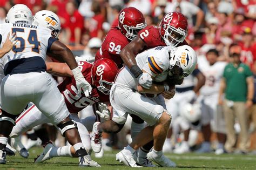
[[[46,62],[46,71],[60,77],[72,77],[72,71],[66,63]]]

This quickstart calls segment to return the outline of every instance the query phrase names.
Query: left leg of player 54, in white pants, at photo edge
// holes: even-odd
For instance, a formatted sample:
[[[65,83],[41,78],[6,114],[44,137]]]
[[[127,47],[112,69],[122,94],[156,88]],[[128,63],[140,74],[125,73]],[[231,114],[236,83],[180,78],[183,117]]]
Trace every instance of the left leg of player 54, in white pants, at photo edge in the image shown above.
[[[22,76],[14,74],[3,78],[1,86],[2,98],[2,114],[0,115],[0,164],[6,163],[5,147],[8,137],[15,125],[15,119],[21,113],[28,101],[24,98],[24,94],[29,94],[29,86],[19,87],[20,84],[25,85]]]

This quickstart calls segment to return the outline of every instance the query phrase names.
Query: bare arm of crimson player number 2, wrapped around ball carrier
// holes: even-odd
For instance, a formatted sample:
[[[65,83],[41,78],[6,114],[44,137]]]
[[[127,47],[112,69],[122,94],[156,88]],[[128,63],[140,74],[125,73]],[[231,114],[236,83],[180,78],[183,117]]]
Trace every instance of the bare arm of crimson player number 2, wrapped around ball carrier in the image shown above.
[[[144,49],[145,46],[146,43],[141,38],[139,38],[139,36],[137,36],[137,38],[127,44],[120,52],[120,57],[123,59],[124,64],[129,67],[136,78],[142,74],[142,70],[140,70],[137,66],[135,57]]]

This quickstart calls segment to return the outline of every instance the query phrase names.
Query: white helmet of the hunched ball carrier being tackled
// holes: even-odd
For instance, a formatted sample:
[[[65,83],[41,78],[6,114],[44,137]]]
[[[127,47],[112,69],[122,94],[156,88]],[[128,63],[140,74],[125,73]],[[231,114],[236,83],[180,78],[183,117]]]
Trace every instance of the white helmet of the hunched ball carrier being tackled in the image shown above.
[[[177,70],[181,76],[187,77],[197,65],[197,54],[188,45],[182,45],[170,52],[169,76]]]

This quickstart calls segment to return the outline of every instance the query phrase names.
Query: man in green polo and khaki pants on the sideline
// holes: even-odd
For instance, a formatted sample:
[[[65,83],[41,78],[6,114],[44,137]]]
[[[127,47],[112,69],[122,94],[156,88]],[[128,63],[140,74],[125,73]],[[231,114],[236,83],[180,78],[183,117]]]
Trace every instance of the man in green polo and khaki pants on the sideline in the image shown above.
[[[239,151],[247,153],[250,147],[248,121],[246,110],[253,105],[254,84],[250,67],[241,63],[241,47],[238,44],[230,46],[231,62],[225,67],[220,84],[219,104],[224,103],[227,140],[225,149],[233,152],[237,141],[234,130],[235,118],[240,125]],[[225,101],[223,94],[225,91]]]

